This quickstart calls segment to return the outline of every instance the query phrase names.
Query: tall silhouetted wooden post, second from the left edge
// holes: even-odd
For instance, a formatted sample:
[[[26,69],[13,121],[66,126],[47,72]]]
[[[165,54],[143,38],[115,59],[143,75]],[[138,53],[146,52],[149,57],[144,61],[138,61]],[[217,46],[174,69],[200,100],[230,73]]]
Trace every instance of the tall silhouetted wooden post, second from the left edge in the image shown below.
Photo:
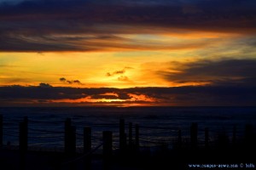
[[[23,122],[20,122],[19,150],[20,150],[20,170],[26,169],[26,151],[27,151],[27,116]]]

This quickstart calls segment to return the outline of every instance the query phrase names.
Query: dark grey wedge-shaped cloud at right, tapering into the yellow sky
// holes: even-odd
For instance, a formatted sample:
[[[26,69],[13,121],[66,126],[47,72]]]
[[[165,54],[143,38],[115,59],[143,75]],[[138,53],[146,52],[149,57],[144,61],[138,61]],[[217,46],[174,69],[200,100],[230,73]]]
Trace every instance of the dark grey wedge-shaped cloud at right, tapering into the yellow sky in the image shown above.
[[[173,63],[170,63],[173,65]],[[191,63],[175,63],[178,72],[158,71],[170,82],[209,82],[214,85],[256,84],[256,59],[199,60]],[[172,68],[173,69],[173,68]]]

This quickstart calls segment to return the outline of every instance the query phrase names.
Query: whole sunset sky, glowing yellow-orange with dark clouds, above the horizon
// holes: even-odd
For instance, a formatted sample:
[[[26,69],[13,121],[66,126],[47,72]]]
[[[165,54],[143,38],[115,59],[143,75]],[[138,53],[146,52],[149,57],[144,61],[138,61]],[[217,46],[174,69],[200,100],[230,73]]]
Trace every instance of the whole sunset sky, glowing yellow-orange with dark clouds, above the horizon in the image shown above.
[[[255,8],[0,0],[0,106],[255,106]]]

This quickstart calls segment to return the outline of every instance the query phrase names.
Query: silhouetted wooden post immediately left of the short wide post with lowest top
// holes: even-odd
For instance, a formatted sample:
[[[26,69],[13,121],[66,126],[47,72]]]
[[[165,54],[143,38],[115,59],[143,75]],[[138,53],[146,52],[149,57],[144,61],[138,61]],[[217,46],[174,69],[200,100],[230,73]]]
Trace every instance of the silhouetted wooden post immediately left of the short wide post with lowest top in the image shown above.
[[[84,127],[84,154],[91,150],[91,128]],[[84,157],[84,169],[91,169],[91,156]]]

